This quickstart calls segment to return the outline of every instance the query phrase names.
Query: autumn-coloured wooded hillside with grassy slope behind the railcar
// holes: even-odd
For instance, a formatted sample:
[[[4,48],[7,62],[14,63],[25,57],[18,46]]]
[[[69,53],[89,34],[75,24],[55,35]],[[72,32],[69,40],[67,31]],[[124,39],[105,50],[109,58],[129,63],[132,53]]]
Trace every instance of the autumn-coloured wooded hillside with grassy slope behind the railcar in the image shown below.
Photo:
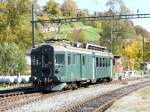
[[[48,0],[41,7],[35,4],[36,20],[70,17],[130,14],[122,0],[108,0],[106,12],[90,13],[79,10],[75,0]],[[31,5],[32,0],[0,0],[0,74],[26,71],[25,54],[31,49]],[[117,8],[115,8],[117,7]],[[112,52],[126,59],[126,69],[134,63],[140,69],[142,63],[142,40],[144,38],[145,61],[150,61],[150,33],[141,26],[134,26],[131,20],[80,21],[64,24],[36,24],[36,44],[48,38],[67,38],[74,42],[91,42],[110,49],[112,32]],[[6,50],[7,49],[7,50]],[[12,50],[13,49],[13,50]],[[6,55],[9,55],[8,57]],[[13,57],[18,57],[15,59]]]

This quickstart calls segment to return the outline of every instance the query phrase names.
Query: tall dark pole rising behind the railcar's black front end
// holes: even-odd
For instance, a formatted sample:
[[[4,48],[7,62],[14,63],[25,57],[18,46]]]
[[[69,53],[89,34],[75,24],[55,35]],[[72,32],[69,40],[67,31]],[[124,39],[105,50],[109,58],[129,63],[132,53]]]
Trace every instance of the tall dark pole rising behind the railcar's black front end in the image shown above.
[[[32,48],[35,48],[35,11],[32,3]]]

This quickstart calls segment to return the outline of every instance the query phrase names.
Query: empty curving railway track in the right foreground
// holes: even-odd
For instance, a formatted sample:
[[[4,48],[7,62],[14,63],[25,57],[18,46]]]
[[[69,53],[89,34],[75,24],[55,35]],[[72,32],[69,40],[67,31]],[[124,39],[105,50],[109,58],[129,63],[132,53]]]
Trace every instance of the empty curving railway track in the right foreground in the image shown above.
[[[132,84],[113,90],[96,97],[91,97],[82,102],[65,107],[64,109],[57,110],[58,112],[104,112],[108,109],[117,99],[134,92],[140,88],[150,85],[150,81],[144,81],[137,84]]]

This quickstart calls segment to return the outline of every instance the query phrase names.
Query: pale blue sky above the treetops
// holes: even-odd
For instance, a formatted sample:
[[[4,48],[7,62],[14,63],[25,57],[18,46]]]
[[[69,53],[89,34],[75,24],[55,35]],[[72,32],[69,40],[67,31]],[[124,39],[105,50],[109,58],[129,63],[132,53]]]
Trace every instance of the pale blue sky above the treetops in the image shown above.
[[[48,0],[39,0],[41,6],[45,5]],[[64,0],[57,0],[59,3],[63,3]],[[105,6],[107,0],[75,0],[80,9],[88,9],[91,12],[94,11],[106,11]],[[150,0],[123,0],[126,6],[131,10],[131,13],[136,13],[137,9],[139,13],[150,13]],[[149,19],[136,19],[133,20],[135,25],[140,25],[150,31],[150,18]]]

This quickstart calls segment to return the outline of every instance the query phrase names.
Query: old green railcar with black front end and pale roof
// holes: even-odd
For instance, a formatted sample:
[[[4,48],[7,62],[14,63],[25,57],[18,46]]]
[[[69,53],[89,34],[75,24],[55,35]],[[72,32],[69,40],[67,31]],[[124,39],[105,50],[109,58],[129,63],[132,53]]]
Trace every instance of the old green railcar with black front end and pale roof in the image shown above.
[[[102,46],[42,44],[31,60],[33,84],[54,90],[113,77],[113,55]]]

